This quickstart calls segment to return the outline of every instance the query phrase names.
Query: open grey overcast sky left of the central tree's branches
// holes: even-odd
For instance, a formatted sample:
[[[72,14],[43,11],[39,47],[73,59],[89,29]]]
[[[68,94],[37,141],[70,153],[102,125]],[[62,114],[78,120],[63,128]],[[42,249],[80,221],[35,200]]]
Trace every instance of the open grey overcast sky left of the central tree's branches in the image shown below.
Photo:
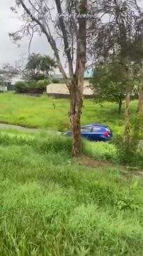
[[[20,60],[21,56],[27,57],[28,53],[29,40],[27,38],[23,39],[21,47],[17,48],[17,45],[13,44],[8,36],[9,32],[14,32],[20,28],[20,20],[10,11],[10,6],[13,6],[14,2],[14,0],[0,0],[0,67],[6,62],[13,65],[15,61]],[[31,48],[34,53],[47,54],[53,57],[45,36],[42,38],[34,36]]]

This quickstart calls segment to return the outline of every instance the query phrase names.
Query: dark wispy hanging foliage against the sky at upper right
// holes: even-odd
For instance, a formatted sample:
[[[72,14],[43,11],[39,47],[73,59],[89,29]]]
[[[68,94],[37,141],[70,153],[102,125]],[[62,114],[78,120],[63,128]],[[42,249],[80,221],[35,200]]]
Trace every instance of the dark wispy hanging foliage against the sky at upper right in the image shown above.
[[[89,53],[98,61],[119,55],[128,62],[142,61],[142,10],[137,1],[95,0],[94,8],[98,19],[90,20]]]

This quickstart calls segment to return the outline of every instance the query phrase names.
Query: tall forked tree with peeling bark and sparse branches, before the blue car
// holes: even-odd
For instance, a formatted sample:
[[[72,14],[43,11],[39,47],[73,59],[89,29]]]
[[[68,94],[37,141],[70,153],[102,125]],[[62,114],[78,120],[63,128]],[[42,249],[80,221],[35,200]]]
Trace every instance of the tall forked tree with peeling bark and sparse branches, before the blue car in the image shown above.
[[[21,7],[23,8],[21,18],[24,26],[18,32],[11,33],[10,36],[14,41],[19,41],[25,34],[30,35],[31,44],[35,32],[45,34],[70,92],[69,116],[73,127],[73,156],[79,156],[82,152],[80,117],[86,65],[87,0],[16,0],[15,7],[11,9],[17,13],[17,8]],[[70,79],[63,68],[55,34],[58,35],[64,48]]]

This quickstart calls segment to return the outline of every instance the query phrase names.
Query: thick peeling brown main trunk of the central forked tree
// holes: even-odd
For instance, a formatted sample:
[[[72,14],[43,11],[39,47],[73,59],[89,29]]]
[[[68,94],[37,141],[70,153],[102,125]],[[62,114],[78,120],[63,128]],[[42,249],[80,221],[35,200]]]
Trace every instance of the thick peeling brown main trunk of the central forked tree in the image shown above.
[[[87,12],[87,0],[80,1],[80,14]],[[83,16],[82,16],[83,17]],[[70,86],[70,122],[73,127],[73,156],[82,154],[80,118],[83,105],[84,70],[86,63],[86,17],[78,18],[77,59]]]

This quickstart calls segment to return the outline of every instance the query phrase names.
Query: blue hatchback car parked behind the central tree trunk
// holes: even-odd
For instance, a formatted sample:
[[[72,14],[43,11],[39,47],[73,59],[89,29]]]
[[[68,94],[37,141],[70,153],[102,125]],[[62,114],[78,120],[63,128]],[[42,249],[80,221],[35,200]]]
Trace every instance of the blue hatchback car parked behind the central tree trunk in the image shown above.
[[[63,133],[63,135],[72,136],[73,132],[68,131]],[[109,126],[103,124],[89,124],[87,126],[81,127],[81,135],[86,140],[96,141],[96,142],[108,142],[112,140],[112,130]]]

